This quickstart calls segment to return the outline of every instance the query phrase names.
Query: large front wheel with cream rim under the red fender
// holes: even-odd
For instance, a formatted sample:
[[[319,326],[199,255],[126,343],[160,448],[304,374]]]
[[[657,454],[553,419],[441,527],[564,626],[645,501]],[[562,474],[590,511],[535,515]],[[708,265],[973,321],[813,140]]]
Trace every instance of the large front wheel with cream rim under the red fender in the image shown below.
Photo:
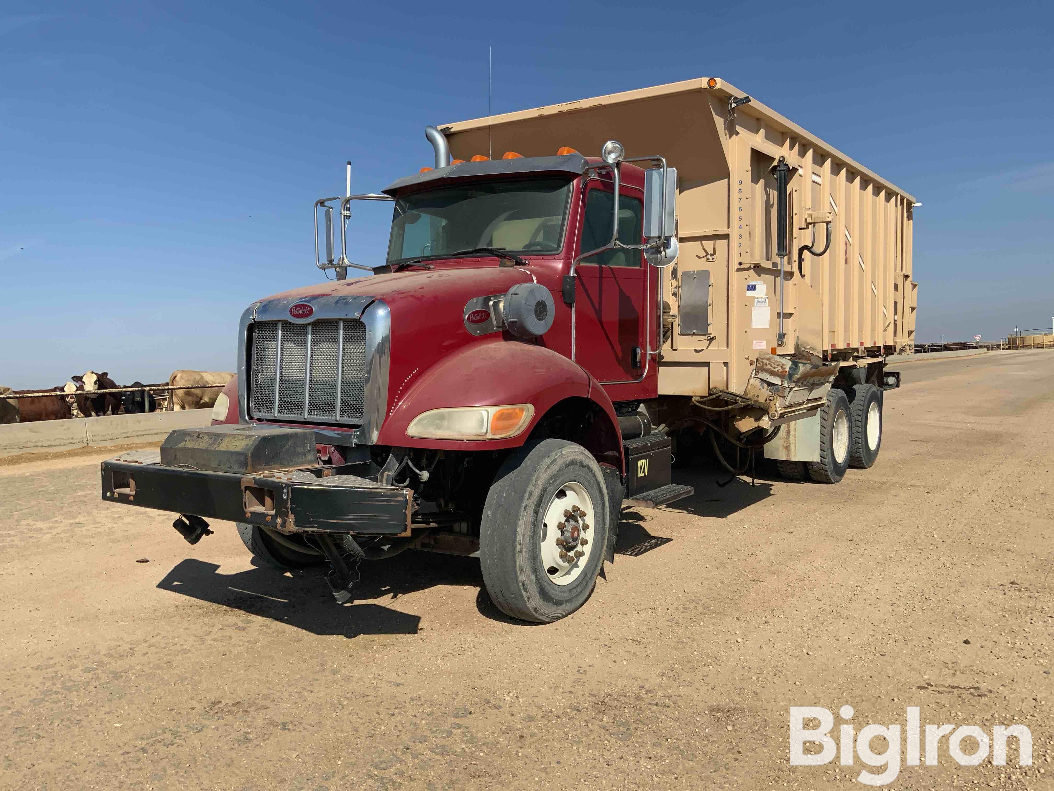
[[[592,594],[604,562],[607,495],[581,445],[538,440],[515,450],[487,493],[480,565],[506,615],[551,623]]]

